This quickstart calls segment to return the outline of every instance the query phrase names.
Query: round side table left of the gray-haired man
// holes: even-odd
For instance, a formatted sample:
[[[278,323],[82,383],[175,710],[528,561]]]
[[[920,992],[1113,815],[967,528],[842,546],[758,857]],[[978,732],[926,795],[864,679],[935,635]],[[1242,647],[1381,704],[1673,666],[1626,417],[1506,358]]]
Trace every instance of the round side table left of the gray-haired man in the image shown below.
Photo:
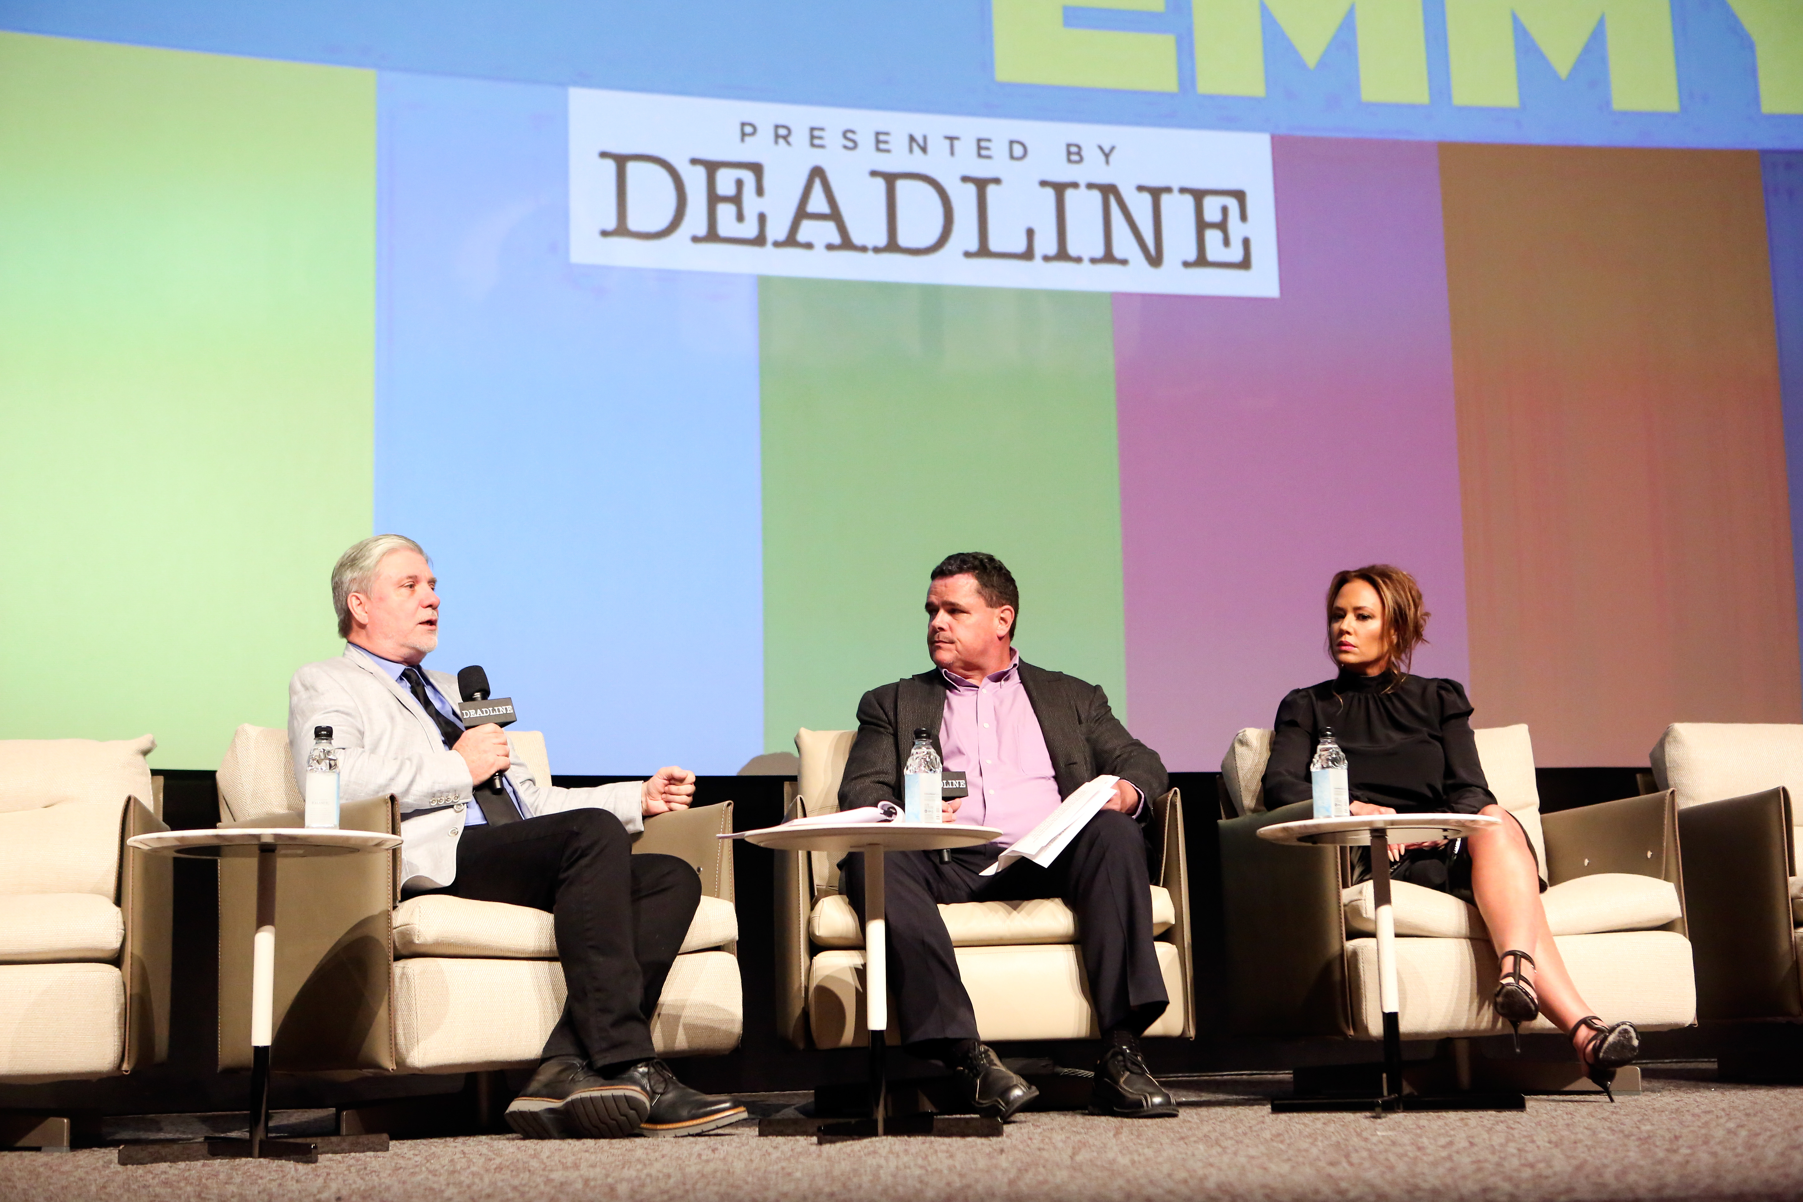
[[[400,836],[323,827],[236,827],[162,831],[137,834],[126,842],[144,852],[195,860],[256,856],[256,935],[251,946],[251,1137],[126,1144],[119,1148],[119,1164],[227,1159],[281,1159],[312,1164],[321,1152],[384,1152],[388,1148],[386,1135],[269,1139],[269,1043],[276,1009],[276,861],[299,856],[355,856],[393,851],[400,847]]]

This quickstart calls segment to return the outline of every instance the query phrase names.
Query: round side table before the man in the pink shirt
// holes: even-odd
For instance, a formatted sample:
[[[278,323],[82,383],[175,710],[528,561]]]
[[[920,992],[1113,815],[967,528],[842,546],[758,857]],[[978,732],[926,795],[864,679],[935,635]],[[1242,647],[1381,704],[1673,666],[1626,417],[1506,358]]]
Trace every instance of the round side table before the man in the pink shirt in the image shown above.
[[[975,847],[1001,838],[995,827],[959,822],[833,822],[806,827],[770,827],[745,838],[772,851],[819,851],[864,854],[864,1015],[871,1036],[871,1117],[883,1135],[887,1065],[883,1033],[889,1031],[889,971],[883,919],[883,852],[945,851]],[[1001,1134],[1001,1132],[997,1132]]]

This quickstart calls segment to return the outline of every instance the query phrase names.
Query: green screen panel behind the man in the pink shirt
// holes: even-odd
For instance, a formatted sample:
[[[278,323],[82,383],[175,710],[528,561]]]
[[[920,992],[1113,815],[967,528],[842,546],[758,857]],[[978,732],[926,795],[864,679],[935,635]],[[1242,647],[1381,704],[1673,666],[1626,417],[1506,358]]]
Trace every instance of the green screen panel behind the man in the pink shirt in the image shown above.
[[[764,278],[759,330],[764,746],[932,667],[948,551],[999,555],[1020,654],[1125,715],[1109,296]]]

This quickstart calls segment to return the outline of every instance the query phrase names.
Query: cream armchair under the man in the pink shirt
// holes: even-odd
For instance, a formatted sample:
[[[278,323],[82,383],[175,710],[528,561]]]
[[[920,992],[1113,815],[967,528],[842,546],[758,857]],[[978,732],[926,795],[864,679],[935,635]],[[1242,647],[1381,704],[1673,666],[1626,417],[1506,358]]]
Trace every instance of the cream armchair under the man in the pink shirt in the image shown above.
[[[784,815],[838,809],[855,730],[801,730],[801,779],[784,789]],[[1170,1007],[1149,1036],[1195,1038],[1190,970],[1190,890],[1177,791],[1152,802],[1152,923]],[[838,892],[837,856],[777,856],[777,1024],[795,1047],[864,1047],[864,930]],[[984,1040],[1098,1038],[1076,948],[1076,915],[1058,899],[970,901],[939,906],[957,971]],[[894,1036],[891,1036],[894,1038]]]

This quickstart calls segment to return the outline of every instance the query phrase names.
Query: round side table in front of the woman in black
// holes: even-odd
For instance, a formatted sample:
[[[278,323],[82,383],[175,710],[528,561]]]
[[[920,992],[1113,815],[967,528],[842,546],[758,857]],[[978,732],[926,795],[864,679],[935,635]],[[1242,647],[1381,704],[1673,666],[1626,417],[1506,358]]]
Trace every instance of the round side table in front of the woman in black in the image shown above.
[[[1450,1094],[1428,1097],[1410,1094],[1403,1101],[1403,1034],[1397,1020],[1401,1006],[1396,984],[1396,912],[1390,906],[1388,843],[1432,843],[1469,838],[1489,831],[1502,818],[1484,815],[1352,815],[1349,818],[1304,818],[1258,829],[1258,838],[1273,843],[1309,847],[1370,847],[1370,892],[1377,919],[1377,1004],[1383,1011],[1383,1094],[1377,1097],[1278,1097],[1277,1112],[1302,1110],[1524,1110],[1520,1094]]]

